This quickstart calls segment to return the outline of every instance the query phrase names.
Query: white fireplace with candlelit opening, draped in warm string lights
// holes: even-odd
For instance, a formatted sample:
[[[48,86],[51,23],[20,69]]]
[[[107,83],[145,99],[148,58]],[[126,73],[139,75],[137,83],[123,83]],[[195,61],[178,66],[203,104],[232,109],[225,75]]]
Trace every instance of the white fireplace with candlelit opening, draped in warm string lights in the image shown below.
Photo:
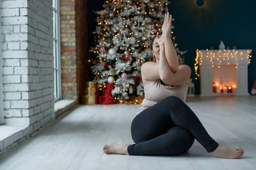
[[[196,78],[201,96],[248,95],[248,65],[252,50],[198,50]]]

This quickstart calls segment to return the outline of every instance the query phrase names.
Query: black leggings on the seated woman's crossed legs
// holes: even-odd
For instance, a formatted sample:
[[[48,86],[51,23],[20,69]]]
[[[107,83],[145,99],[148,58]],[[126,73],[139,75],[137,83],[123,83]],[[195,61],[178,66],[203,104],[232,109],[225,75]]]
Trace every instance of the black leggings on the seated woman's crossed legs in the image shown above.
[[[129,155],[175,156],[189,150],[195,139],[208,153],[218,147],[195,113],[175,96],[138,114],[131,136],[135,144],[128,146]]]

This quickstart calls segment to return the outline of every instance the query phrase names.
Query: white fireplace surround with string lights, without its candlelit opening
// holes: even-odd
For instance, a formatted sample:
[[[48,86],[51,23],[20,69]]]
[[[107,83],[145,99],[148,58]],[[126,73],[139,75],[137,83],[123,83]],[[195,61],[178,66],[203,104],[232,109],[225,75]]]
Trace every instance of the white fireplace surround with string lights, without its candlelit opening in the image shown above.
[[[196,51],[196,70],[197,65],[200,70],[200,88],[201,96],[247,96],[248,93],[248,64],[250,63],[250,53],[252,50],[198,50]],[[212,90],[213,69],[230,65],[229,68],[232,74],[236,70],[236,93],[216,94]],[[228,67],[227,67],[228,68]],[[227,70],[227,69],[226,69]],[[226,72],[225,70],[225,72]],[[215,70],[216,71],[216,70]],[[220,71],[218,71],[220,72]],[[227,73],[221,73],[223,75]],[[198,74],[198,73],[196,73]],[[234,73],[233,73],[234,74]],[[218,75],[221,76],[221,75]],[[224,79],[225,80],[225,79]]]

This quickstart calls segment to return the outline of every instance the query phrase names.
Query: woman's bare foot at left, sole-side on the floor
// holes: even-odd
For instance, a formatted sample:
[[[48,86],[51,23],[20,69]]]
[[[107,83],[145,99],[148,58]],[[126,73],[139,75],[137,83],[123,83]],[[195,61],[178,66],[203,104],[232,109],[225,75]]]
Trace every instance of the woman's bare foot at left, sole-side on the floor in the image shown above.
[[[117,145],[117,144],[105,144],[103,146],[103,153],[106,154],[111,154],[111,153],[116,153],[116,154],[122,154],[122,155],[129,155],[127,148],[130,144],[126,144],[124,146],[122,145]]]

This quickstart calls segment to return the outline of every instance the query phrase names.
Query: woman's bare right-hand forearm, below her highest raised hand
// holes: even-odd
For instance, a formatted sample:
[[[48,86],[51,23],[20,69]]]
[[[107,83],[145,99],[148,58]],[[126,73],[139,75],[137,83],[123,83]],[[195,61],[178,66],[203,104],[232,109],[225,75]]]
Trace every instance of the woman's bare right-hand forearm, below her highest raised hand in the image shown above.
[[[165,56],[169,67],[171,68],[172,72],[177,71],[179,68],[179,59],[177,52],[175,50],[174,44],[172,43],[172,39],[170,36],[163,34],[163,41],[166,46],[165,48]]]

